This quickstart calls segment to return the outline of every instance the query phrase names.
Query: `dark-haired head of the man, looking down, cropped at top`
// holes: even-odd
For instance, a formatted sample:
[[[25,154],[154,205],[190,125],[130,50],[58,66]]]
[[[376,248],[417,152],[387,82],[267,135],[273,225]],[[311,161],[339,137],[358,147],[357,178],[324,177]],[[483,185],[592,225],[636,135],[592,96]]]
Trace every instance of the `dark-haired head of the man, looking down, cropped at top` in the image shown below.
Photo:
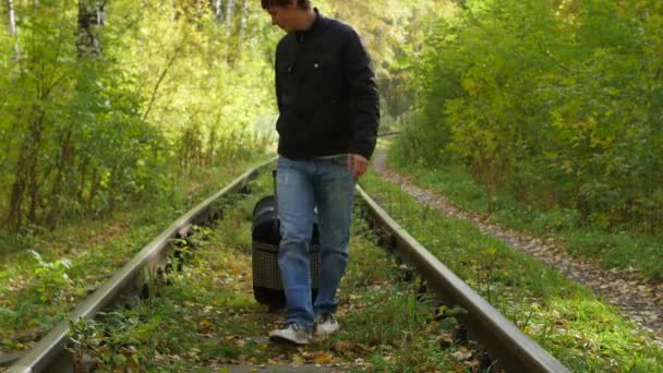
[[[263,9],[272,16],[272,24],[286,33],[308,28],[315,13],[310,0],[261,0]]]

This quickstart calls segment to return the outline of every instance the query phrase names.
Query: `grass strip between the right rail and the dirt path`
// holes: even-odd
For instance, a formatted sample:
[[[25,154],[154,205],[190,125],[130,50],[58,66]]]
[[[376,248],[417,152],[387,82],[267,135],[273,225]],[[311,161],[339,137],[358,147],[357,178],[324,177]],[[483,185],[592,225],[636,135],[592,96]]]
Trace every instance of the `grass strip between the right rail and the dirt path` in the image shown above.
[[[652,336],[589,290],[482,234],[471,222],[423,208],[398,185],[373,175],[362,185],[434,255],[572,371],[663,371],[663,353]]]

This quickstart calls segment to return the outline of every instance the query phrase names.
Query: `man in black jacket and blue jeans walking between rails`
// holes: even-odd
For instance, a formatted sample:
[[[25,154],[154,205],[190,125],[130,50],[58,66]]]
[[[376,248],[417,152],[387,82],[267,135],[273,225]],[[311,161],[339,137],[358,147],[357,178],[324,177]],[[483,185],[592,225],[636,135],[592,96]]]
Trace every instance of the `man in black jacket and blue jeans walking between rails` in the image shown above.
[[[287,321],[273,341],[306,345],[338,329],[336,290],[348,263],[354,183],[369,166],[379,120],[371,60],[348,25],[310,0],[262,0],[287,35],[276,48],[279,118],[279,267]],[[321,273],[311,297],[309,248],[317,208]]]

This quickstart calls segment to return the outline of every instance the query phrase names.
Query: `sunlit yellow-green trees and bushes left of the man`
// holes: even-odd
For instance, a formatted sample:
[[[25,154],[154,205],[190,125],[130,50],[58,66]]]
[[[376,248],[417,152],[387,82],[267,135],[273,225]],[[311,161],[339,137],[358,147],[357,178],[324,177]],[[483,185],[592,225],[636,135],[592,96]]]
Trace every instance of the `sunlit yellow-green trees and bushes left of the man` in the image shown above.
[[[274,117],[278,34],[258,3],[241,5],[219,22],[201,2],[113,1],[93,25],[76,3],[14,2],[17,37],[0,34],[0,229],[155,201],[177,176],[269,146],[254,123]]]

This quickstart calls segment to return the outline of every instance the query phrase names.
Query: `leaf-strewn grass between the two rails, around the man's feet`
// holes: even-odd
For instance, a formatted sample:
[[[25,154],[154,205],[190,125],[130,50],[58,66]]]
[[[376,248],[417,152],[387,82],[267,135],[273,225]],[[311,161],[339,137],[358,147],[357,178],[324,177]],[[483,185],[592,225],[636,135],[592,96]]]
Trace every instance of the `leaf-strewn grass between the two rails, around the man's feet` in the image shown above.
[[[377,238],[359,217],[339,290],[340,332],[308,347],[269,344],[265,337],[284,315],[267,312],[252,296],[251,210],[261,195],[270,192],[270,180],[261,180],[252,195],[226,210],[159,297],[118,310],[122,317],[95,325],[94,330],[107,330],[106,337],[86,348],[101,371],[140,365],[145,371],[222,372],[224,366],[240,363],[345,364],[355,372],[471,371],[477,364],[472,359],[453,356],[459,350],[472,354],[466,347],[439,348],[441,338],[451,339],[454,324],[436,322],[434,306],[417,301],[418,284],[400,281],[402,270],[375,245]],[[146,326],[136,325],[134,318],[159,325],[150,330],[149,340],[141,340]]]

